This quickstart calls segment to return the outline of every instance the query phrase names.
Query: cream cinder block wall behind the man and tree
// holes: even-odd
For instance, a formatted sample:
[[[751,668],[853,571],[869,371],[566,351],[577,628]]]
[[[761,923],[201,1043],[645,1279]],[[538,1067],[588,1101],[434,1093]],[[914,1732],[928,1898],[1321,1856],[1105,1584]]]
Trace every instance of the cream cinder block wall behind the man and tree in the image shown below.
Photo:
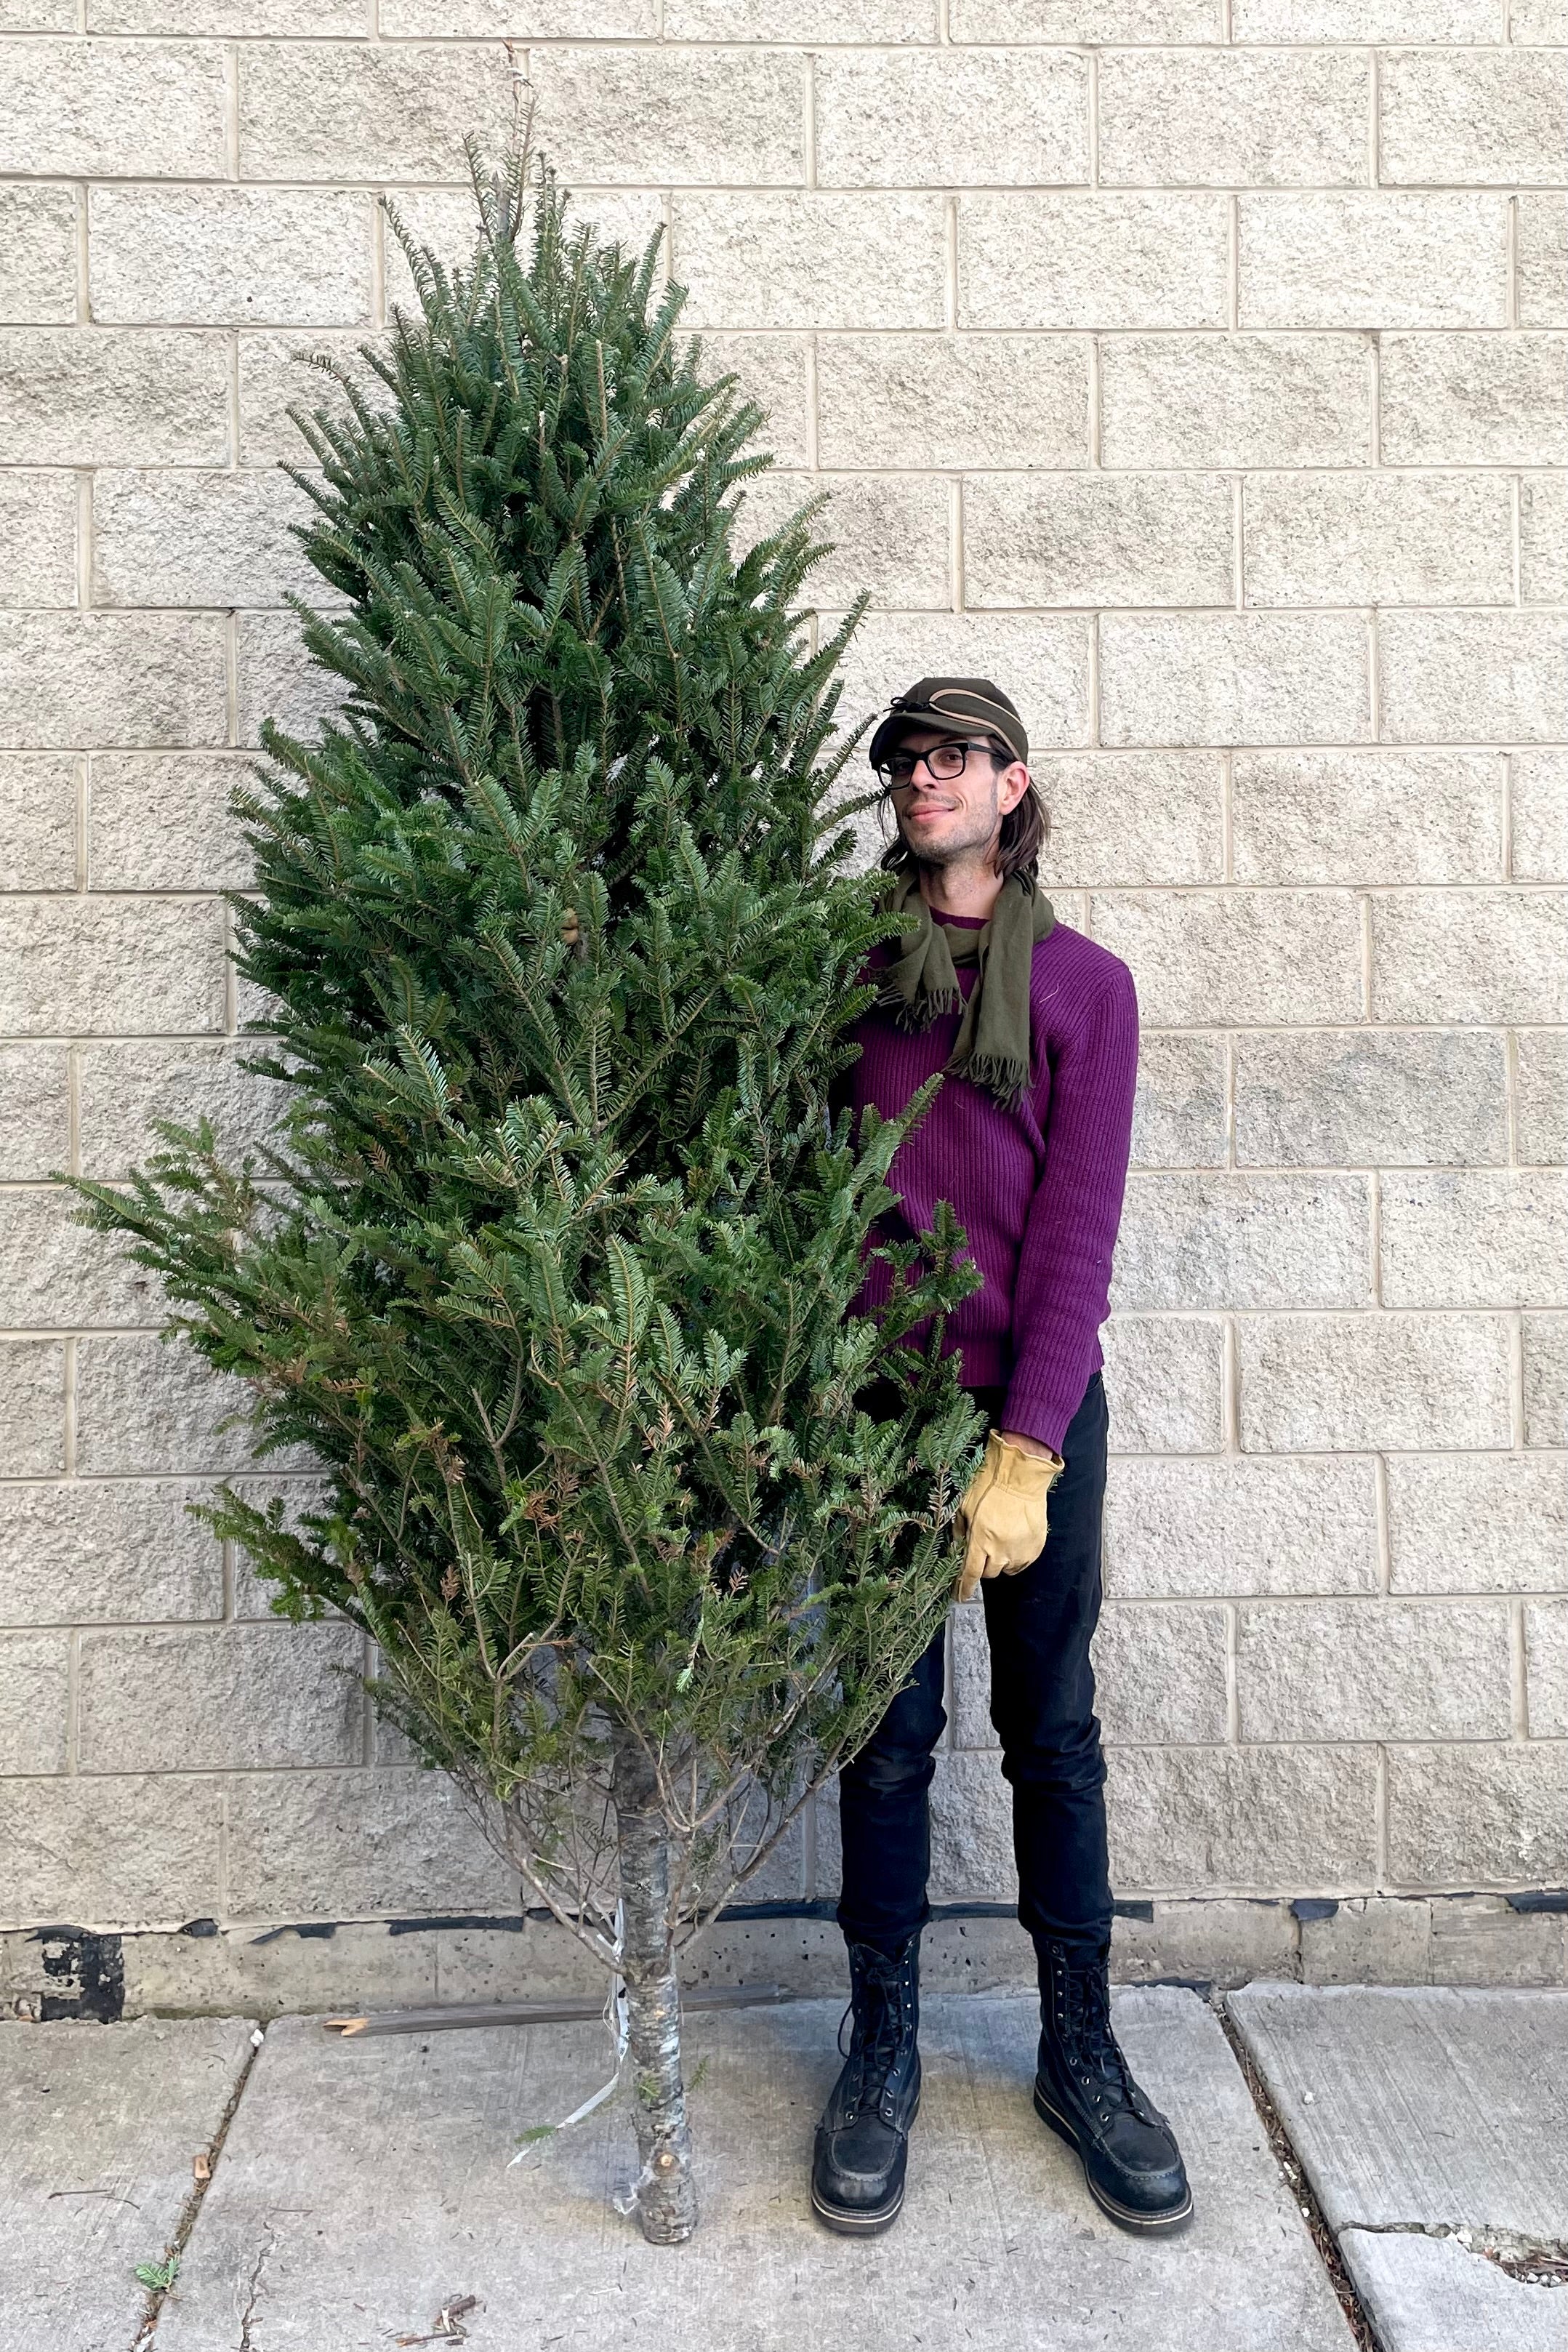
[[[1147,1028],[1121,1896],[1568,1879],[1561,0],[0,0],[0,1917],[510,1910],[49,1171],[266,1124],[216,896],[308,727],[284,402],[527,85],[832,492],[870,708],[1027,710]],[[943,1898],[1004,1898],[976,1616]],[[832,1816],[769,1893],[832,1889]]]

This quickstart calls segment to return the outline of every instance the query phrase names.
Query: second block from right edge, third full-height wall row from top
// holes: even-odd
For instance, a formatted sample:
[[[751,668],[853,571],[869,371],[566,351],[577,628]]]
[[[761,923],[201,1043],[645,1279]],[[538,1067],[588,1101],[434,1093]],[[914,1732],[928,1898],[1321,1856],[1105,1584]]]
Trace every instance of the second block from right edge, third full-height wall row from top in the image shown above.
[[[1354,334],[1117,334],[1100,346],[1100,459],[1363,466],[1371,397]]]

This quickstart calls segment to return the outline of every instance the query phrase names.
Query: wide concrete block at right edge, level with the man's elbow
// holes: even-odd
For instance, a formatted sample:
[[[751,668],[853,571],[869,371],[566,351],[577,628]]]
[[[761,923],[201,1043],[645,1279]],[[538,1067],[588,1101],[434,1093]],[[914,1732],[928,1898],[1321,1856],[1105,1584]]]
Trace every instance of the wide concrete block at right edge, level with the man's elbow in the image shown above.
[[[1382,1296],[1392,1308],[1568,1305],[1568,1171],[1385,1176]]]

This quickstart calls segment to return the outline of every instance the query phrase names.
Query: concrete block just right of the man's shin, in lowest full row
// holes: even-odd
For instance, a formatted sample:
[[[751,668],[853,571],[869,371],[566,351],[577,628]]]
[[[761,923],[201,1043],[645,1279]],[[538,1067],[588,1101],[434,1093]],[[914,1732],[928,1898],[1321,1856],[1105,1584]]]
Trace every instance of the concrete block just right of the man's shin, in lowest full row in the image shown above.
[[[1378,1867],[1373,1748],[1114,1748],[1110,1875],[1145,1893],[1293,1893]]]

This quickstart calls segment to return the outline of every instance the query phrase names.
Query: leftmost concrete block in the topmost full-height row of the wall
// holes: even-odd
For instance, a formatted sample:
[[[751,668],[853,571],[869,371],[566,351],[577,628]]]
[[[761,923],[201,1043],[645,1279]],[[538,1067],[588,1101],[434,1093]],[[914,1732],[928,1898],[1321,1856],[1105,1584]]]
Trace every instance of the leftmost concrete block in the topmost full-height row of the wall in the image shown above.
[[[223,56],[200,42],[7,40],[0,172],[216,179]]]

